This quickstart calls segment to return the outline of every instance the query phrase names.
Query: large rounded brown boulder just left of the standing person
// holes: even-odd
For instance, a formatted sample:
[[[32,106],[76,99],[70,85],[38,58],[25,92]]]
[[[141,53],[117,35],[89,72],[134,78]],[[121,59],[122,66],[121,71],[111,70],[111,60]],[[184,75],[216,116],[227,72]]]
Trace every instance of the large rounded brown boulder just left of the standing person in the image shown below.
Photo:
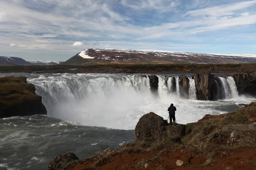
[[[147,138],[164,139],[166,126],[168,122],[153,112],[143,115],[135,127],[136,143]]]

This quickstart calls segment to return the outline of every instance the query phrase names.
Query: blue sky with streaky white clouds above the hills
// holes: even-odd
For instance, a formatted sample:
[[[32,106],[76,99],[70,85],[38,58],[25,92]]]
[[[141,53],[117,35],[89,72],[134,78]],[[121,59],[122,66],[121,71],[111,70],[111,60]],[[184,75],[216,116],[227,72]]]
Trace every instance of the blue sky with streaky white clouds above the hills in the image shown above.
[[[0,56],[87,48],[256,54],[256,0],[1,0]]]

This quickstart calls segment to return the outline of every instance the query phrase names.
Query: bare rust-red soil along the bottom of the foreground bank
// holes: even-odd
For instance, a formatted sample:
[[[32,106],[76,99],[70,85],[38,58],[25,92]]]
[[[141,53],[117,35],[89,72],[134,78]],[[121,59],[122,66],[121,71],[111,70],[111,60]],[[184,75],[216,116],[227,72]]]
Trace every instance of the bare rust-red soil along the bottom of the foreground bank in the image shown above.
[[[157,156],[158,152],[126,153],[111,157],[108,163],[96,168],[97,170],[144,170],[147,161],[147,170],[256,170],[256,148],[242,148],[233,150],[214,151],[212,158],[197,156],[189,148],[180,148]],[[177,167],[175,162],[181,160],[185,164]],[[72,170],[94,169],[93,159],[79,161]]]

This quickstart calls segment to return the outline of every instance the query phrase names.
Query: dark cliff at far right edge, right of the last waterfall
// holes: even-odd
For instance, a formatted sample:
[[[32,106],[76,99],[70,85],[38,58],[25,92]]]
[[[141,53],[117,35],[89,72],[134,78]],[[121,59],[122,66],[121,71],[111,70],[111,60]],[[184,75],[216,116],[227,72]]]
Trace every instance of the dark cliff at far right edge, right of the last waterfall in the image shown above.
[[[256,96],[256,75],[234,74],[233,78],[236,82],[239,94],[250,94]]]

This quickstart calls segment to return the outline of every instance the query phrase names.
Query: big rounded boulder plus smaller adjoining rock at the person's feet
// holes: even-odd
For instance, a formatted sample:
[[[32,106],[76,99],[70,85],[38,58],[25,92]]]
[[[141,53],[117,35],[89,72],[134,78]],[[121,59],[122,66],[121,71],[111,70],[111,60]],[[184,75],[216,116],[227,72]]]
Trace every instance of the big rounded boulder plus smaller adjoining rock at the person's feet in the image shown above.
[[[185,125],[169,126],[163,117],[153,112],[143,115],[135,127],[136,143],[147,139],[159,141],[166,138],[179,142],[185,134]]]

